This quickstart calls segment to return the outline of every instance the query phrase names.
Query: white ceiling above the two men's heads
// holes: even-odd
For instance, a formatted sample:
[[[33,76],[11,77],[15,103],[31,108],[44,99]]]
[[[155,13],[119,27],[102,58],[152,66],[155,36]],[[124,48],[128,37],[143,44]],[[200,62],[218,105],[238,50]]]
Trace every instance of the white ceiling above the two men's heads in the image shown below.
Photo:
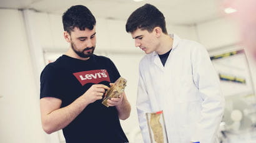
[[[62,14],[70,6],[82,4],[87,6],[96,18],[127,20],[137,7],[150,3],[163,12],[166,22],[190,25],[221,17],[222,1],[224,0],[0,0],[0,8],[36,9]]]

